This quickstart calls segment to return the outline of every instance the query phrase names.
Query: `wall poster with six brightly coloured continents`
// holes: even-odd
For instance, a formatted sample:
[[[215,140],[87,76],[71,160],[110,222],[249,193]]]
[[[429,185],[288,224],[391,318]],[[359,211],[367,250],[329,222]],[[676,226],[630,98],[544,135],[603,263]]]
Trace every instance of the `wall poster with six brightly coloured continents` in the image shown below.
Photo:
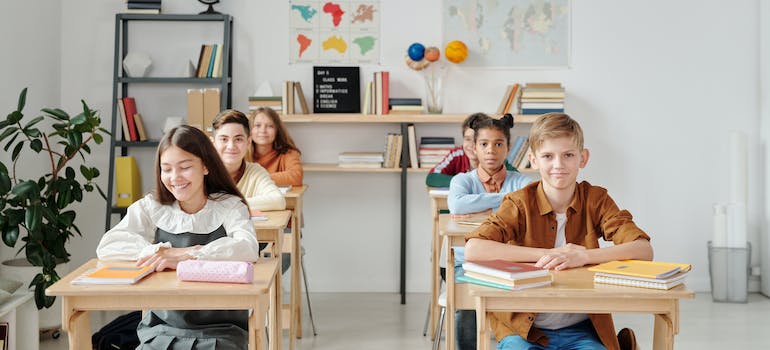
[[[379,63],[379,1],[289,1],[289,26],[289,63]]]

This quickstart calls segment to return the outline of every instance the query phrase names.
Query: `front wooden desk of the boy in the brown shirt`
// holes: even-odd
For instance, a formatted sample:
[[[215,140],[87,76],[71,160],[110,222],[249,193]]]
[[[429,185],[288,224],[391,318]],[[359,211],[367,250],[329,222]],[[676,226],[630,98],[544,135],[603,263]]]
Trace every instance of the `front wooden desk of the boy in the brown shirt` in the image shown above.
[[[476,304],[478,349],[490,347],[486,313],[516,311],[650,313],[655,317],[653,349],[671,350],[674,348],[674,335],[679,333],[679,299],[695,297],[685,285],[667,291],[594,285],[594,273],[586,267],[552,273],[554,281],[551,286],[515,292],[468,285],[468,292]]]

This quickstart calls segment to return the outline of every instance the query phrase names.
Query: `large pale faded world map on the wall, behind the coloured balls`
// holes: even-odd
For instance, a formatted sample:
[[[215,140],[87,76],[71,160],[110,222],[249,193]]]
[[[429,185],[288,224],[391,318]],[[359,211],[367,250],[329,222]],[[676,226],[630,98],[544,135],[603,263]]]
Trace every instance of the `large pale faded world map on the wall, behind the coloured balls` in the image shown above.
[[[444,38],[468,46],[469,66],[566,67],[568,0],[445,0]]]

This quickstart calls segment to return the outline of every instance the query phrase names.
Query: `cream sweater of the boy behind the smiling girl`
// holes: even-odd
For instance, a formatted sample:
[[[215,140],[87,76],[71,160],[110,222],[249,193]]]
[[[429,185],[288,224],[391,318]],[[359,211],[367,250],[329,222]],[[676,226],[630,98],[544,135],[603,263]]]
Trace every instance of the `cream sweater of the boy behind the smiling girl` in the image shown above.
[[[275,185],[270,173],[257,163],[246,162],[246,169],[238,181],[238,190],[241,191],[249,208],[255,210],[284,210],[286,199]]]

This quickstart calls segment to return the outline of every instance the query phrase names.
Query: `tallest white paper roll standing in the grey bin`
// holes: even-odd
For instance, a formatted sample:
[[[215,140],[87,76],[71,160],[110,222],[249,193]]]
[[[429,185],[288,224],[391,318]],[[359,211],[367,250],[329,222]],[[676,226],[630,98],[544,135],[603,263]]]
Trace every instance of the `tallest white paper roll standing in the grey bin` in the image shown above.
[[[746,204],[748,192],[748,148],[746,134],[738,130],[730,130],[727,155],[728,203]]]

